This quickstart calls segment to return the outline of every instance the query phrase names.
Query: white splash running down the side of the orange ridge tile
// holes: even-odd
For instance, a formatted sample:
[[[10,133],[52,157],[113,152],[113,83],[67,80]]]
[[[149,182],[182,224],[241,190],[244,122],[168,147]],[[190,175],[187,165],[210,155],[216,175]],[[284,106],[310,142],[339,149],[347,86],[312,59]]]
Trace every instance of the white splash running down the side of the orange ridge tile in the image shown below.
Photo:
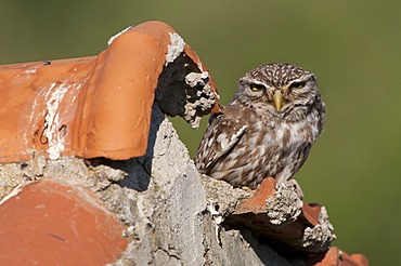
[[[64,136],[59,132],[62,127],[59,118],[59,106],[69,88],[72,88],[72,84],[51,83],[46,95],[47,115],[44,117],[43,135],[48,139],[48,152],[51,160],[59,159],[64,150]]]

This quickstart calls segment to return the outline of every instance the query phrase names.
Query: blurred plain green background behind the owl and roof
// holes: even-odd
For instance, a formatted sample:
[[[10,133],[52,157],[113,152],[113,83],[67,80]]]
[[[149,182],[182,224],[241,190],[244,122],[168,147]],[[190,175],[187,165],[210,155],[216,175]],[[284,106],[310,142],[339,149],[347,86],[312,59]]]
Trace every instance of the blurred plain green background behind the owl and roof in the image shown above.
[[[170,24],[208,66],[225,104],[270,62],[316,74],[327,122],[297,174],[326,205],[347,253],[396,265],[401,237],[401,1],[2,0],[0,64],[95,55],[129,25]],[[205,130],[172,119],[193,156]]]

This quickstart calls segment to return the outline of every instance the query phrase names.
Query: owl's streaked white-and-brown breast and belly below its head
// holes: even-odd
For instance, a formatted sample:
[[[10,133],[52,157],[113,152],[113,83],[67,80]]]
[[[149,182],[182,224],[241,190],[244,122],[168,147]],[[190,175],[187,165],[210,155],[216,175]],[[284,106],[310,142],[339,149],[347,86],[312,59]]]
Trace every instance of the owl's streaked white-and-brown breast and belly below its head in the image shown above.
[[[247,186],[251,189],[268,176],[275,177],[277,182],[290,178],[308,158],[320,133],[316,115],[309,114],[299,121],[286,121],[282,117],[267,117],[255,123],[245,123],[253,119],[236,120],[246,124],[245,133],[230,152],[205,173],[234,187]],[[258,114],[255,116],[261,117]],[[216,122],[221,123],[221,120]],[[215,138],[216,145],[227,145],[228,138],[227,133],[220,133]]]

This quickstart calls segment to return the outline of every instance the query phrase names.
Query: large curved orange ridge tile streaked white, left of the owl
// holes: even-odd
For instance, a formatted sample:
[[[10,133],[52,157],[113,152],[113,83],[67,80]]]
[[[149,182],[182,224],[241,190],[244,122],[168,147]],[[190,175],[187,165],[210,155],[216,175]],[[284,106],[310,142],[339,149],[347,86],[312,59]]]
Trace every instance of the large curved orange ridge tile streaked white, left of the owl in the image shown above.
[[[143,156],[159,76],[178,59],[211,88],[205,114],[219,110],[206,66],[160,22],[122,31],[99,56],[1,66],[0,162],[27,160],[34,150],[50,159]],[[168,115],[195,127],[199,116]]]

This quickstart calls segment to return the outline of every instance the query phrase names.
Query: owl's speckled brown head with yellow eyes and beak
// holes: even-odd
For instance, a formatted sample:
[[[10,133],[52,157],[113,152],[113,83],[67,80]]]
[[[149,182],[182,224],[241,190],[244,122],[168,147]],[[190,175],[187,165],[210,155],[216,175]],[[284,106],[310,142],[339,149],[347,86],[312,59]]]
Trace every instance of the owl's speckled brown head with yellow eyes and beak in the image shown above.
[[[232,102],[286,114],[321,102],[315,76],[288,63],[261,65],[240,79]],[[324,108],[324,106],[323,106]]]

